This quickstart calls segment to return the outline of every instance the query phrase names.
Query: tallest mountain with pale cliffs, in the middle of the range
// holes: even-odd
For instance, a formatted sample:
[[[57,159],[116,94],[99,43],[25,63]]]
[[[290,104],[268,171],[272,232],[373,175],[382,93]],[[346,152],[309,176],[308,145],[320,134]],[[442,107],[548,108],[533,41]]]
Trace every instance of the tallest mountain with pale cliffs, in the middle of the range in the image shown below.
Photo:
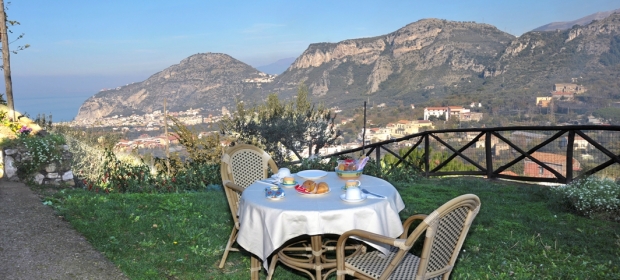
[[[269,89],[292,96],[303,81],[316,98],[343,108],[369,96],[419,102],[478,79],[513,40],[488,24],[424,19],[383,36],[312,44]]]

